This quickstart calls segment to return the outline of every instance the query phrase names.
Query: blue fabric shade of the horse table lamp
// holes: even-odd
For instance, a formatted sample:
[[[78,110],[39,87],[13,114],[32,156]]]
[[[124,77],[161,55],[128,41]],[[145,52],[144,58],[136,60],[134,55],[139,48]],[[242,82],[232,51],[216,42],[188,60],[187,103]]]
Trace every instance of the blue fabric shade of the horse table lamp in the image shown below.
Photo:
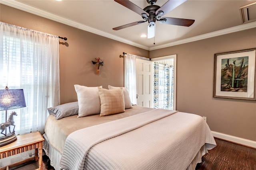
[[[0,90],[0,111],[26,107],[23,89]]]

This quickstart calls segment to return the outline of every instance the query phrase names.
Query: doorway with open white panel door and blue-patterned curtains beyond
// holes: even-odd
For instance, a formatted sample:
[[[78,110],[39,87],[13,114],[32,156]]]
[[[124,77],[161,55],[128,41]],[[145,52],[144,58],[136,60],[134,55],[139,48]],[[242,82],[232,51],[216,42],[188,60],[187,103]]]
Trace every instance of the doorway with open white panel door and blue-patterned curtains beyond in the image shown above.
[[[154,63],[159,65],[158,88],[155,88],[156,82],[154,75]],[[168,68],[167,68],[168,67]],[[164,76],[165,68],[171,69],[172,72],[168,81]],[[156,76],[157,77],[157,76]],[[166,85],[169,84],[167,87]],[[170,87],[171,86],[171,87]],[[145,61],[136,59],[136,88],[137,88],[137,105],[144,107],[176,109],[176,55],[164,56]],[[169,88],[169,91],[168,89]],[[167,90],[167,91],[166,91]],[[158,95],[155,95],[155,94]],[[167,95],[171,99],[171,106],[166,107]],[[169,99],[168,99],[169,100]],[[157,104],[157,105],[156,105]]]

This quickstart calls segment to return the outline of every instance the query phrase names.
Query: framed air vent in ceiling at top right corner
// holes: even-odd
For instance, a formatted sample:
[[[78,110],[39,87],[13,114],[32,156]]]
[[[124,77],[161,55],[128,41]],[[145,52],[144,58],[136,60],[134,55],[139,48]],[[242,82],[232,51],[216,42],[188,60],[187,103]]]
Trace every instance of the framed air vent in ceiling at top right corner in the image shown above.
[[[243,23],[256,21],[256,2],[241,6],[239,9],[241,12]]]

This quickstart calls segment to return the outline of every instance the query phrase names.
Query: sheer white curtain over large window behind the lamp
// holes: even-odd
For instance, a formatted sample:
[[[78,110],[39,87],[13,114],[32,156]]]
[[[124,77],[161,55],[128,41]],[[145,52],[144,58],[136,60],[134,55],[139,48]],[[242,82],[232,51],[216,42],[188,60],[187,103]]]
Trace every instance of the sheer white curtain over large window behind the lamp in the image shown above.
[[[18,114],[16,135],[44,133],[47,108],[60,104],[59,79],[58,36],[0,22],[0,89],[23,89],[26,100],[26,107],[8,111]]]

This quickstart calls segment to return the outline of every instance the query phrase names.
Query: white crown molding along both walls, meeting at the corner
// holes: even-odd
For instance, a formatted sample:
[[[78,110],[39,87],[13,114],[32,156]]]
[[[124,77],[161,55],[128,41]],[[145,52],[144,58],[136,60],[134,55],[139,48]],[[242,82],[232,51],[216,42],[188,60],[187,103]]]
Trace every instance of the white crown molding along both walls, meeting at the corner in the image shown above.
[[[106,32],[101,31],[99,29],[89,27],[89,26],[84,25],[82,23],[78,23],[76,21],[69,20],[67,18],[52,14],[50,12],[46,12],[44,10],[40,10],[38,8],[23,4],[23,3],[18,2],[16,0],[0,0],[0,3],[4,4],[4,5],[7,5],[7,6],[11,6],[13,8],[16,8],[16,9],[19,9],[19,10],[22,10],[22,11],[25,11],[25,12],[29,12],[31,14],[35,14],[37,16],[47,18],[49,20],[57,21],[57,22],[65,24],[65,25],[76,27],[78,29],[82,29],[84,31],[88,31],[90,33],[94,33],[94,34],[97,34],[97,35],[100,35],[100,36],[103,36],[103,37],[106,37],[106,38],[109,38],[109,39],[120,41],[122,43],[126,43],[128,45],[132,45],[132,46],[135,46],[135,47],[138,47],[138,48],[141,48],[141,49],[145,49],[145,50],[148,50],[148,51],[152,51],[152,50],[156,50],[156,49],[162,49],[162,48],[171,47],[171,46],[174,46],[174,45],[180,45],[180,44],[184,44],[184,43],[190,43],[190,42],[193,42],[193,41],[198,41],[198,40],[202,40],[202,39],[207,39],[207,38],[216,37],[216,36],[219,36],[219,35],[234,33],[234,32],[237,32],[237,31],[242,31],[242,30],[251,29],[251,28],[256,27],[256,21],[254,21],[254,22],[250,22],[250,23],[245,23],[243,25],[238,25],[238,26],[235,26],[235,27],[230,27],[230,28],[227,28],[227,29],[214,31],[214,32],[211,32],[211,33],[206,33],[206,34],[198,35],[198,36],[195,36],[195,37],[190,37],[190,38],[187,38],[187,39],[174,41],[174,42],[171,42],[171,43],[166,43],[166,44],[163,44],[163,45],[157,45],[157,46],[154,46],[154,47],[146,47],[144,45],[134,43],[134,42],[129,41],[127,39],[118,37],[116,35],[106,33]]]

